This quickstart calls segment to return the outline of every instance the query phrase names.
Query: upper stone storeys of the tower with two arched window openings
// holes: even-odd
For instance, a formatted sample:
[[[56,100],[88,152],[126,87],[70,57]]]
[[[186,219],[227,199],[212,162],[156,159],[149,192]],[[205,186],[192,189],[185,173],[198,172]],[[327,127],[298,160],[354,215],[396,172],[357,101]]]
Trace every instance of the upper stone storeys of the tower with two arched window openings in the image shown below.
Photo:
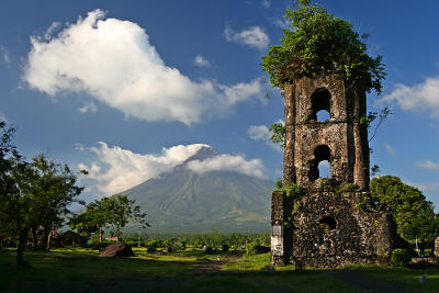
[[[369,188],[365,92],[335,75],[302,78],[284,88],[285,153],[283,182],[306,187],[319,178],[318,164],[330,164],[330,178]],[[318,121],[326,111],[329,119]]]

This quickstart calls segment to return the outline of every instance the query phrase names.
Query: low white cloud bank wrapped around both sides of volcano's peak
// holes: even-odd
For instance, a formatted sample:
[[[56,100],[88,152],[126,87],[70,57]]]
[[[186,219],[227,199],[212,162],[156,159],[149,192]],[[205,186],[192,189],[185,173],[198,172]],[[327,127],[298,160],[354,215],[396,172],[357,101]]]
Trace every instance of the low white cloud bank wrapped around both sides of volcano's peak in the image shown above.
[[[171,171],[173,167],[184,162],[203,147],[210,146],[178,145],[162,148],[159,154],[136,154],[119,146],[110,147],[103,142],[91,148],[78,145],[79,150],[91,150],[95,155],[92,162],[80,164],[79,168],[88,170],[87,178],[95,181],[98,192],[108,196]],[[226,170],[257,178],[263,178],[264,169],[260,160],[247,160],[239,155],[217,155],[202,161],[192,160],[187,167],[196,173]]]

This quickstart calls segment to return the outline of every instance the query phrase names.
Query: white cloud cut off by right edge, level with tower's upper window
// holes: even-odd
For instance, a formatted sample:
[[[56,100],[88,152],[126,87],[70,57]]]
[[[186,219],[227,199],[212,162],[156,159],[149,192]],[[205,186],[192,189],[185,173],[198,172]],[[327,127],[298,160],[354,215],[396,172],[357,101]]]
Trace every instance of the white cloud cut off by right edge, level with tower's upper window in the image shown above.
[[[398,83],[378,103],[397,103],[404,111],[429,111],[439,120],[439,77],[429,77],[421,83],[408,87]]]

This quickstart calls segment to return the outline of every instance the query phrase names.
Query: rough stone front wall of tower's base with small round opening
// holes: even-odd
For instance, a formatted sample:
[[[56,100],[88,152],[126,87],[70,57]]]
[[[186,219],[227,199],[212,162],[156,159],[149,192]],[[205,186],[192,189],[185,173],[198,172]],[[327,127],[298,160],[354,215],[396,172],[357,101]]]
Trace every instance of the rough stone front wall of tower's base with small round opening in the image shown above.
[[[293,211],[293,260],[316,268],[374,263],[379,215],[357,207],[368,193],[338,193],[333,183],[316,180]]]

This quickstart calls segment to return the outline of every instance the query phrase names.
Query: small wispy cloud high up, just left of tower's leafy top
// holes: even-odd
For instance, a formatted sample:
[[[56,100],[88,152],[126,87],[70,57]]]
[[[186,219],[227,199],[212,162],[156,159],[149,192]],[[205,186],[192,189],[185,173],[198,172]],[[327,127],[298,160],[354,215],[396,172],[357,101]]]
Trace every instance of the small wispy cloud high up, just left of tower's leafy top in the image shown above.
[[[270,42],[268,34],[260,26],[251,26],[240,32],[235,32],[230,25],[226,25],[224,35],[227,42],[235,42],[259,49],[267,48]]]

